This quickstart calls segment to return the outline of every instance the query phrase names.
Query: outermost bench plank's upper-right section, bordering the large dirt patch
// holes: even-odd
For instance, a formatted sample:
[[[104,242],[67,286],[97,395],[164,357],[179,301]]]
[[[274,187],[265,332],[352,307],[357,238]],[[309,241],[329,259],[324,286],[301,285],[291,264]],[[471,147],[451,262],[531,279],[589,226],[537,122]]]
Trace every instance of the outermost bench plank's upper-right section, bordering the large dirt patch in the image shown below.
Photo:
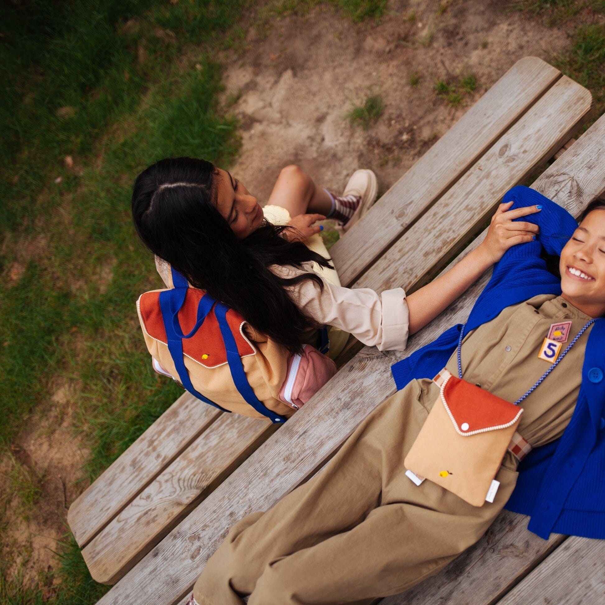
[[[537,57],[518,60],[374,204],[367,218],[330,248],[342,285],[350,286],[559,76]]]

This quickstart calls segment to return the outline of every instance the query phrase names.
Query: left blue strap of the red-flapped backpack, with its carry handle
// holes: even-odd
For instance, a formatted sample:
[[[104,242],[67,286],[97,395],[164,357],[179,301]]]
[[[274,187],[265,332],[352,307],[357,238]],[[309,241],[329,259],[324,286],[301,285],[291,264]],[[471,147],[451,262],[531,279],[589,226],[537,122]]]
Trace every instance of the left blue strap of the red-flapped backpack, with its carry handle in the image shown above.
[[[177,282],[174,279],[174,276],[179,275],[175,270],[172,270],[172,283],[176,284]],[[183,280],[185,278],[182,278]],[[180,282],[182,283],[182,281]],[[172,361],[174,362],[174,366],[178,373],[178,378],[180,378],[181,384],[186,390],[189,391],[194,397],[197,397],[201,401],[206,404],[212,405],[219,410],[224,412],[229,412],[230,410],[225,410],[225,408],[221,408],[220,405],[215,404],[214,401],[208,399],[208,397],[204,397],[203,394],[198,393],[195,390],[194,385],[191,383],[191,378],[189,378],[189,372],[185,367],[185,361],[183,360],[183,338],[191,338],[194,335],[195,331],[201,325],[201,322],[204,321],[206,315],[212,309],[212,305],[214,304],[214,299],[208,294],[204,294],[200,300],[200,304],[197,309],[197,317],[198,321],[196,322],[196,327],[192,332],[189,333],[188,336],[182,336],[183,332],[181,330],[180,324],[178,324],[178,312],[183,306],[183,302],[185,302],[185,295],[187,293],[187,280],[185,280],[185,286],[178,286],[172,290],[164,290],[160,292],[160,310],[162,311],[162,319],[164,321],[164,328],[166,330],[166,340],[168,341],[168,351],[172,357]],[[178,325],[178,333],[175,330],[175,324]]]

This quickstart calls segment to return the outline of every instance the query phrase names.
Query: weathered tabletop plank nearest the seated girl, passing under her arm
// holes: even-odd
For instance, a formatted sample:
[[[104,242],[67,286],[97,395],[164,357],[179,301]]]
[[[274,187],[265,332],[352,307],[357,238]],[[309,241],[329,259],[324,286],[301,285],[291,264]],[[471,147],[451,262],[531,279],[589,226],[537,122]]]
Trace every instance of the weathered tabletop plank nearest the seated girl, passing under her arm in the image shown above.
[[[571,179],[573,185],[569,184]],[[603,193],[605,116],[536,185],[574,215]],[[483,235],[477,238],[459,258],[482,238]],[[464,321],[488,278],[486,273],[442,315],[413,335],[406,352],[381,353],[365,347],[99,603],[126,605],[136,600],[149,600],[157,605],[177,603],[194,584],[228,528],[250,512],[270,508],[319,468],[359,422],[393,394],[391,364],[433,341],[451,325]]]

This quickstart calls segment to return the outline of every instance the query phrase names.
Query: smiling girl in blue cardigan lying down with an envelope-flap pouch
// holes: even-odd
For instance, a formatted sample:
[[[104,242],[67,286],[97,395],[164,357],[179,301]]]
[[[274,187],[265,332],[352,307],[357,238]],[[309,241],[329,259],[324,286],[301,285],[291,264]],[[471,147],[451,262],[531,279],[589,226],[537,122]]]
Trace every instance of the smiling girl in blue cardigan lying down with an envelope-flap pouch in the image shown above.
[[[532,189],[505,201],[542,206],[528,217],[538,240],[505,253],[464,326],[393,366],[401,390],[325,469],[231,528],[191,603],[397,594],[473,545],[505,505],[543,538],[605,538],[605,201],[580,226]]]

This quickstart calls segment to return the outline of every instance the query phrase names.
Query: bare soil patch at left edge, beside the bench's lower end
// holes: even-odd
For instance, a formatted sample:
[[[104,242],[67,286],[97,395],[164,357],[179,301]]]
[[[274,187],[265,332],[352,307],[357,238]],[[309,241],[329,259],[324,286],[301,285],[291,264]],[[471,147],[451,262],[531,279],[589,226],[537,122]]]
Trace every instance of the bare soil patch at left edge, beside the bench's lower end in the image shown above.
[[[52,573],[59,564],[57,541],[67,531],[68,506],[82,489],[88,451],[72,428],[78,393],[79,385],[58,382],[50,409],[31,417],[0,461],[0,560],[8,564],[7,580],[22,574],[24,586],[35,586],[40,572]]]

